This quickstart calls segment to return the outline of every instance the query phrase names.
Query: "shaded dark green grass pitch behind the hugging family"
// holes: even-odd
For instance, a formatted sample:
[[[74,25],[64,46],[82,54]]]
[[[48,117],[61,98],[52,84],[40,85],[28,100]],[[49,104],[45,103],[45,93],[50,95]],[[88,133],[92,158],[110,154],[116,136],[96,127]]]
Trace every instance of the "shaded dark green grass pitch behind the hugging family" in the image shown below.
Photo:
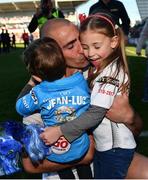
[[[21,121],[21,117],[15,111],[16,98],[29,79],[29,75],[22,62],[23,48],[17,46],[9,54],[0,55],[0,121],[15,119]],[[143,51],[144,53],[144,51]],[[148,103],[142,103],[144,75],[146,71],[146,59],[135,55],[134,47],[127,47],[128,63],[131,73],[130,103],[140,114],[144,122],[144,130],[148,130],[147,110]],[[147,138],[139,138],[138,151],[148,155]],[[8,178],[40,178],[41,175],[29,175],[19,173]],[[5,177],[7,178],[7,177]]]

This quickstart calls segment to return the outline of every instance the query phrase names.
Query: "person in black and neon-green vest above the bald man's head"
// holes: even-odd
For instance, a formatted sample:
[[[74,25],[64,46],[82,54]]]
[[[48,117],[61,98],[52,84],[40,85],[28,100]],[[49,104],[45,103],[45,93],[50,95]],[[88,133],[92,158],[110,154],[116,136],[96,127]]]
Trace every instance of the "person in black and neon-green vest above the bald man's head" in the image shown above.
[[[41,5],[29,23],[28,30],[32,33],[37,29],[37,27],[41,29],[48,19],[53,18],[64,18],[64,14],[59,9],[53,8],[51,0],[41,0]]]

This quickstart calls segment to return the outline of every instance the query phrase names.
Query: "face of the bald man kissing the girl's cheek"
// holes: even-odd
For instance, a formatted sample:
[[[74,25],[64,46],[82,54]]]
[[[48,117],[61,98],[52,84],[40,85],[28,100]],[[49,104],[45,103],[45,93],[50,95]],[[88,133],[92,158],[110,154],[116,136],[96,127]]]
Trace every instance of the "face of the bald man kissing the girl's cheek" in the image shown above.
[[[62,48],[68,66],[83,68],[88,65],[79,40],[79,31],[75,25],[61,26],[56,31],[51,31],[50,37]]]

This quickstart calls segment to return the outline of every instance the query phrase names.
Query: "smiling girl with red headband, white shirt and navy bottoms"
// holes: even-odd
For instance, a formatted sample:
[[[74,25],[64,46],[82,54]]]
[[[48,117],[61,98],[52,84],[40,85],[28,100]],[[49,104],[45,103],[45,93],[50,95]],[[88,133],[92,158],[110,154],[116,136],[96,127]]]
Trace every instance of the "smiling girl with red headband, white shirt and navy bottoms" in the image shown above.
[[[106,14],[89,16],[81,24],[80,40],[85,56],[94,65],[89,77],[92,106],[73,122],[50,128],[50,131],[46,129],[41,134],[46,144],[53,143],[51,138],[56,140],[62,134],[69,141],[79,137],[84,130],[98,125],[98,113],[101,111],[105,116],[116,95],[129,93],[124,35],[113,20]],[[94,178],[125,178],[136,147],[132,132],[124,124],[104,117],[93,134]]]

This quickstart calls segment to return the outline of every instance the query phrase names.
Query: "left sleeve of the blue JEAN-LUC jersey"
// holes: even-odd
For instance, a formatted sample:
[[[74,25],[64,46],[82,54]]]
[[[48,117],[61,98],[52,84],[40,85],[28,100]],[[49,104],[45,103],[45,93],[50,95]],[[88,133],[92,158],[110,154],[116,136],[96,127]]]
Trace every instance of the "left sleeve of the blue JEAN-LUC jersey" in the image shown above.
[[[16,111],[22,116],[31,115],[36,110],[39,110],[39,102],[33,89],[16,102]]]

